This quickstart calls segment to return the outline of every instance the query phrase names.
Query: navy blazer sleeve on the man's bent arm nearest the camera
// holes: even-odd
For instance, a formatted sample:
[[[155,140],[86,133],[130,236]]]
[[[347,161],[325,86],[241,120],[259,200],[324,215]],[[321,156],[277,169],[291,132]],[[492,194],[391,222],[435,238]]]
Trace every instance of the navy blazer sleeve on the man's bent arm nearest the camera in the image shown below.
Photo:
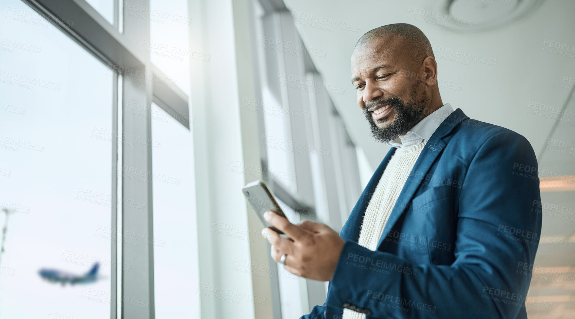
[[[470,158],[455,203],[455,262],[412,264],[346,241],[327,306],[355,305],[371,312],[367,318],[517,317],[531,279],[520,265],[534,262],[541,231],[535,153],[522,135],[504,131]],[[393,270],[374,271],[362,260]]]

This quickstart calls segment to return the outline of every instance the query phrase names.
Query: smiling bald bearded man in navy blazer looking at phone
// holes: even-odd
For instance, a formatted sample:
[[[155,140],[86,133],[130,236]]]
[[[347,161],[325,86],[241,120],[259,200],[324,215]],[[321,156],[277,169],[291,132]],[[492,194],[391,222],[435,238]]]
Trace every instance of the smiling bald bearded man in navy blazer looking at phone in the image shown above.
[[[302,318],[527,318],[519,265],[534,262],[542,217],[530,143],[443,104],[415,26],[364,34],[351,72],[374,137],[393,147],[339,235],[271,212],[289,239],[262,231],[285,269],[329,281]]]

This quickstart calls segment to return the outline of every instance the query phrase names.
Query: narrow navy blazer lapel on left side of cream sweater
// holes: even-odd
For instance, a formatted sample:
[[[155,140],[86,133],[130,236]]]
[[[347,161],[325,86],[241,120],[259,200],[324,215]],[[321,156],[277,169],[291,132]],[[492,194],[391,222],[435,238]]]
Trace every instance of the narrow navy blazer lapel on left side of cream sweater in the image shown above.
[[[346,224],[343,225],[342,231],[340,231],[339,236],[344,240],[352,240],[354,242],[358,242],[359,240],[359,231],[361,228],[361,222],[363,220],[363,214],[365,213],[365,209],[369,200],[371,199],[371,195],[375,191],[375,186],[379,182],[379,178],[384,174],[385,166],[388,165],[389,159],[392,158],[393,153],[395,152],[396,148],[392,147],[388,154],[385,155],[384,160],[381,161],[371,179],[365,186],[365,189],[359,196],[359,200],[355,203],[354,209],[350,213],[350,217],[348,217]]]

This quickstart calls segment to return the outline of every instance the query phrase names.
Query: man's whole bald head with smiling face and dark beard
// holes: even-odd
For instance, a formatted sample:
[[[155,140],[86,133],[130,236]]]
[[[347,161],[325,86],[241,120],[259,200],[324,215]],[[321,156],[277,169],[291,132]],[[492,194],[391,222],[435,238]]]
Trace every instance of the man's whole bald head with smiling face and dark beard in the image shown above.
[[[351,83],[379,141],[405,135],[443,105],[437,63],[425,34],[411,24],[363,34],[351,55]]]

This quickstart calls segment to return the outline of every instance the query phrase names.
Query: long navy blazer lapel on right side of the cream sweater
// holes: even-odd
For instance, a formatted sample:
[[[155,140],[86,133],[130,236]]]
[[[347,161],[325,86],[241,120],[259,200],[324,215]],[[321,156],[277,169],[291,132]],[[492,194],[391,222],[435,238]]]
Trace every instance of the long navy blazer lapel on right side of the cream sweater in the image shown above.
[[[446,135],[451,133],[451,131],[463,120],[468,118],[469,117],[463,114],[461,108],[458,108],[443,120],[438,129],[435,130],[435,133],[431,135],[430,139],[427,141],[427,143],[425,143],[425,147],[421,151],[421,154],[419,154],[419,157],[417,158],[417,161],[409,173],[407,181],[405,181],[405,185],[403,186],[403,189],[397,198],[396,204],[394,205],[392,212],[389,215],[389,219],[385,224],[384,231],[379,238],[379,242],[377,244],[378,248],[381,246],[383,240],[388,236],[389,231],[392,229],[393,225],[396,223],[402,213],[404,213],[405,207],[407,207],[411,201],[413,194],[415,194],[417,188],[419,188],[421,181],[431,168],[431,165],[434,164],[435,159],[439,156],[439,154],[441,154],[443,148],[446,146],[446,143],[443,141],[443,137],[446,137]],[[381,174],[379,176],[381,177]],[[373,178],[371,178],[370,183],[372,181]],[[363,211],[365,211],[365,208]]]

